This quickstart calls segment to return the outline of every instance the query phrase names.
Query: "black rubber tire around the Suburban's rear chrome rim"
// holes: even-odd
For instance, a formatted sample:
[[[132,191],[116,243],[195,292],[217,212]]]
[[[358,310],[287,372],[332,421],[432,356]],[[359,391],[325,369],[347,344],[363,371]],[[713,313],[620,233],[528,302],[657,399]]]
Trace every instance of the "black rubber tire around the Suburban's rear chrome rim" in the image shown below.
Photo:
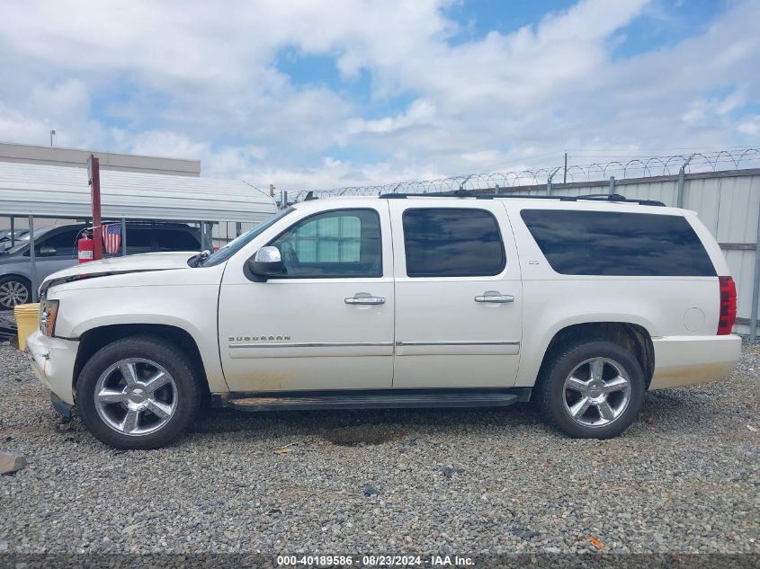
[[[619,397],[616,401],[620,408],[620,414],[612,420],[605,418],[601,408],[596,408],[596,405],[593,403],[590,404],[591,406],[585,414],[575,419],[570,411],[574,406],[570,404],[576,403],[578,405],[577,408],[580,410],[585,403],[581,399],[588,395],[600,398],[602,392],[600,391],[598,382],[592,380],[590,375],[588,381],[597,385],[590,387],[595,391],[588,391],[586,394],[576,392],[572,388],[566,388],[566,379],[568,379],[571,373],[578,374],[581,378],[584,378],[581,374],[583,374],[585,366],[589,366],[588,373],[590,374],[590,366],[592,365],[586,362],[597,359],[604,360],[602,366],[603,375],[607,374],[608,377],[615,372],[616,365],[619,365],[623,373],[618,375],[620,377],[627,376],[630,382],[630,391],[621,391],[620,394],[614,394],[616,398]],[[578,366],[581,367],[578,368]],[[613,383],[612,379],[609,381],[610,384]],[[606,386],[606,384],[604,385]],[[575,439],[611,439],[618,436],[622,431],[625,431],[636,420],[641,411],[641,406],[644,404],[645,391],[646,381],[644,373],[641,370],[639,360],[630,351],[614,342],[588,341],[574,343],[550,354],[549,360],[541,368],[541,378],[539,378],[536,387],[535,401],[539,405],[544,419],[570,437]],[[574,396],[577,396],[576,400],[573,399]],[[613,402],[612,396],[612,393],[604,396],[604,398],[611,397],[611,405]],[[625,396],[628,396],[627,403],[625,403]],[[594,401],[595,399],[590,400]],[[602,405],[604,405],[604,402]],[[605,410],[608,408],[610,406],[605,405]],[[595,419],[595,414],[598,415],[598,419]],[[604,421],[609,422],[597,425],[582,423],[594,421],[600,423]]]

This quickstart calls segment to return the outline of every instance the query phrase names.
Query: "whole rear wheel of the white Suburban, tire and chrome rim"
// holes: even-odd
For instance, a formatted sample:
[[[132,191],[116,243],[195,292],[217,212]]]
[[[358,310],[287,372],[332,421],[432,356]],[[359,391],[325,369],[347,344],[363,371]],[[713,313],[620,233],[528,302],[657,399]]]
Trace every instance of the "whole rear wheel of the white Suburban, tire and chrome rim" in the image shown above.
[[[639,360],[613,342],[586,342],[559,351],[545,373],[537,388],[541,411],[577,439],[616,437],[644,403]]]

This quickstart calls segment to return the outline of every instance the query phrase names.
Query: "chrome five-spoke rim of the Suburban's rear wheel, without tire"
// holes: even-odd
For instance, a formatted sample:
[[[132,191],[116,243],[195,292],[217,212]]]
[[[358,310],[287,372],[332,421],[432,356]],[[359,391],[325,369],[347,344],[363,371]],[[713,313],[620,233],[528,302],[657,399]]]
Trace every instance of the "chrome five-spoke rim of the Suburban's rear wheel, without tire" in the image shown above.
[[[565,379],[564,403],[574,421],[586,427],[604,427],[628,408],[628,373],[609,358],[585,360]]]

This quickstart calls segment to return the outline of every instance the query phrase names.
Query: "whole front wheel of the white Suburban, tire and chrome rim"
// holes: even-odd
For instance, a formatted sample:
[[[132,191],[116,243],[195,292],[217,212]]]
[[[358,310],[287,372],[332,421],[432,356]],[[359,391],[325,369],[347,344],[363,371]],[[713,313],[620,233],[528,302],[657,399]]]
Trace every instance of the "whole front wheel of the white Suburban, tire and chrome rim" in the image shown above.
[[[198,413],[192,362],[149,336],[112,342],[87,361],[76,406],[87,429],[117,449],[156,449],[179,437]]]

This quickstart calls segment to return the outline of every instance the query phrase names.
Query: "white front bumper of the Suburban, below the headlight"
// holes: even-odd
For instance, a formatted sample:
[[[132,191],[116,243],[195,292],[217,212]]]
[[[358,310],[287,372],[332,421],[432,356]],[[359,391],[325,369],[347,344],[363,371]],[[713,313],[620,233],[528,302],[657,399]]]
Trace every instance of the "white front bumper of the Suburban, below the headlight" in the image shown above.
[[[61,402],[74,405],[74,363],[79,342],[50,338],[36,330],[26,339],[24,352],[31,369]]]

